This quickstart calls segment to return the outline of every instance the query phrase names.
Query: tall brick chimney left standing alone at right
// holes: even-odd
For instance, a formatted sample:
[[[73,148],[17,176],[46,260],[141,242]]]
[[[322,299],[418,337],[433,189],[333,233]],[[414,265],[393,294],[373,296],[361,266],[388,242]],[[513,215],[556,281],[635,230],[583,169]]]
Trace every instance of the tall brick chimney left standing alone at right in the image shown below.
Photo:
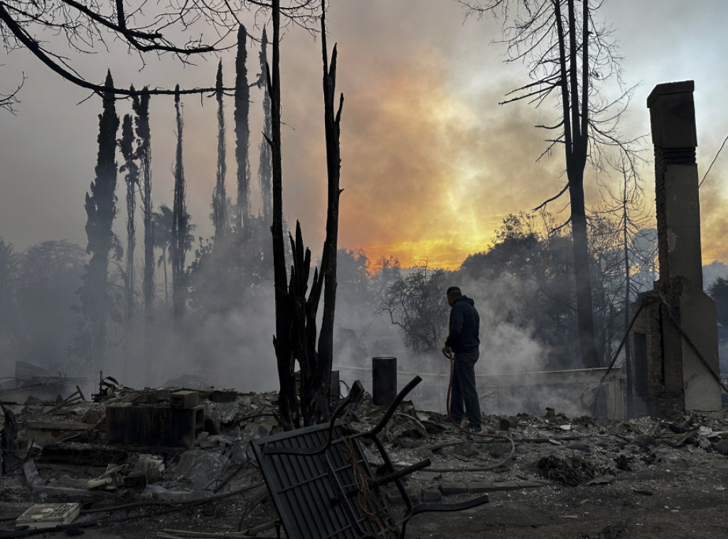
[[[660,278],[641,294],[634,325],[636,412],[721,415],[715,302],[703,291],[692,81],[658,84],[647,98],[654,143]]]

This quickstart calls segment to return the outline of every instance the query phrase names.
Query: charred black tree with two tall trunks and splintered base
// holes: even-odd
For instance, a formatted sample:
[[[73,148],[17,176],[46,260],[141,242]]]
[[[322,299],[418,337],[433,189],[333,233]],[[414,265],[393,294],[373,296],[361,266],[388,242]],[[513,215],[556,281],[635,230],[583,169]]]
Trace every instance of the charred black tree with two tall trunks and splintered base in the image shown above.
[[[273,272],[275,287],[276,334],[273,345],[277,358],[278,378],[280,381],[280,396],[278,400],[280,419],[286,429],[298,426],[303,420],[305,425],[324,420],[328,415],[328,393],[322,396],[321,387],[331,384],[331,366],[328,373],[325,371],[326,363],[319,363],[316,350],[316,314],[324,275],[333,268],[329,282],[333,288],[331,297],[336,298],[336,264],[330,264],[326,259],[328,248],[324,248],[322,271],[314,270],[314,276],[306,299],[308,288],[311,253],[304,250],[301,227],[296,224],[296,239],[290,237],[293,250],[293,268],[290,282],[285,267],[285,251],[283,244],[283,202],[282,202],[282,159],[280,136],[280,0],[272,2],[273,22],[273,58],[272,66],[268,69],[268,88],[272,110],[272,137],[269,143],[272,150],[272,194],[273,194],[273,224],[271,227],[273,239]],[[323,16],[323,14],[322,14]],[[323,19],[322,19],[323,25]],[[325,45],[324,45],[325,47]],[[325,49],[324,49],[325,50]],[[332,65],[327,65],[324,52],[324,88],[325,103],[330,103],[330,109],[325,111],[326,117],[331,119],[327,125],[327,152],[336,153],[328,157],[329,170],[329,211],[327,216],[327,236],[325,245],[333,241],[333,258],[336,258],[336,234],[338,229],[338,200],[339,200],[339,117],[341,109],[336,115],[333,112],[334,82],[336,79],[336,55],[333,55]],[[329,130],[331,129],[331,132]],[[335,148],[334,148],[335,145]],[[332,194],[332,186],[335,194]],[[332,200],[336,200],[336,207],[332,208]],[[330,234],[331,232],[331,234]],[[333,325],[333,305],[329,306],[328,317]],[[329,322],[327,322],[328,324]],[[329,331],[327,328],[325,331]],[[333,333],[333,327],[331,328]],[[329,339],[328,335],[324,337]],[[296,361],[301,367],[300,407],[296,399],[296,385],[293,369]],[[323,366],[323,369],[322,369]],[[328,378],[322,381],[323,378]]]

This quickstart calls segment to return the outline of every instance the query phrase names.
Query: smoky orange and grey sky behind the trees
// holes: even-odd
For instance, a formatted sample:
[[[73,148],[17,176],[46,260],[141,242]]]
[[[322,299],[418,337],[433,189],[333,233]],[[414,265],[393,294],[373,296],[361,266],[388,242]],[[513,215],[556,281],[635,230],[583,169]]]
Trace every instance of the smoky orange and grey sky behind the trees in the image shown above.
[[[260,18],[241,15],[251,34]],[[246,18],[247,17],[247,18]],[[703,0],[608,0],[598,18],[614,27],[623,56],[623,78],[635,86],[624,117],[625,135],[649,135],[646,97],[656,84],[695,81],[697,161],[700,178],[728,135],[724,89],[728,77],[728,4]],[[403,267],[427,264],[456,269],[491,245],[508,213],[530,211],[563,186],[563,153],[537,162],[546,148],[534,125],[553,118],[550,106],[499,106],[505,93],[528,82],[526,66],[504,63],[500,25],[464,19],[451,0],[332,0],[329,46],[338,43],[337,92],[341,117],[341,216],[339,246],[363,248],[376,265],[394,256]],[[52,36],[39,36],[54,39]],[[248,50],[249,76],[258,71],[257,44]],[[320,40],[290,28],[281,44],[283,191],[285,219],[301,221],[314,257],[325,234],[326,172]],[[234,51],[181,66],[171,56],[146,66],[111,42],[92,55],[71,56],[87,79],[103,81],[110,68],[118,86],[211,86],[218,58],[226,81],[234,76]],[[0,93],[23,75],[17,115],[0,111],[0,237],[23,250],[44,240],[86,245],[84,194],[94,176],[100,99],[53,74],[28,52],[0,50]],[[609,95],[609,93],[608,93]],[[251,93],[252,208],[256,193],[261,93]],[[210,237],[215,184],[215,101],[183,98],[184,166],[196,235]],[[120,115],[130,112],[117,103]],[[151,101],[154,205],[172,204],[174,106]],[[234,194],[232,99],[226,103],[228,176]],[[645,157],[650,160],[649,137]],[[703,261],[728,262],[726,172],[721,154],[701,188]],[[642,172],[646,202],[654,212],[654,173]],[[602,178],[609,182],[609,178]],[[600,194],[586,178],[587,205]],[[117,192],[123,229],[122,189]],[[563,210],[566,200],[550,205]],[[566,219],[558,213],[557,221]]]

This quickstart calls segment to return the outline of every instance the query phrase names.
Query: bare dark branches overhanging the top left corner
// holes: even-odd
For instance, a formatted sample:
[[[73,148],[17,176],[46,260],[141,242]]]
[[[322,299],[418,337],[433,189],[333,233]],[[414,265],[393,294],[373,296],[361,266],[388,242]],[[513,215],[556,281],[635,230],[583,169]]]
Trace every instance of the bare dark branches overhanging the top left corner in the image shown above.
[[[79,55],[95,52],[97,49],[94,44],[109,50],[110,42],[119,41],[127,45],[128,50],[137,52],[142,59],[146,52],[154,52],[157,55],[175,55],[186,63],[194,55],[223,50],[226,47],[221,42],[228,34],[232,34],[232,28],[226,23],[227,17],[220,15],[221,10],[204,2],[186,5],[181,9],[175,8],[172,2],[166,5],[160,2],[150,7],[149,11],[149,14],[140,9],[127,12],[126,4],[122,1],[82,3],[75,0],[50,0],[39,3],[33,0],[2,0],[0,42],[7,52],[28,50],[51,71],[76,86],[99,95],[135,95],[128,87],[108,87],[106,84],[90,82],[79,73],[78,66],[74,67],[74,58],[54,48],[58,42],[42,41],[34,36],[44,31],[62,34],[66,37],[68,48]],[[198,34],[197,27],[193,28],[197,21],[206,23],[207,29],[213,31],[210,43],[214,44],[203,42],[202,36],[191,37]],[[184,44],[175,44],[171,36],[177,36]],[[211,91],[214,88],[192,88],[180,90],[180,93]],[[145,88],[142,93],[173,95],[174,90]],[[0,106],[6,109],[15,103],[17,90],[6,96],[5,101],[0,97]]]

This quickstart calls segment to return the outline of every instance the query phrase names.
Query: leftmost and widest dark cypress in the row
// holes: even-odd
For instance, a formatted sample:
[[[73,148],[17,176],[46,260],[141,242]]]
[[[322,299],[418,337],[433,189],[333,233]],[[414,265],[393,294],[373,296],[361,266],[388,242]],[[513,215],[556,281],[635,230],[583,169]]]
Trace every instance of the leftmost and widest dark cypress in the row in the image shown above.
[[[106,85],[114,86],[111,71],[106,75]],[[86,252],[91,255],[79,291],[84,315],[89,323],[93,361],[103,365],[106,345],[106,318],[108,315],[108,256],[118,242],[111,224],[116,216],[116,115],[114,95],[103,96],[103,113],[99,115],[98,158],[96,177],[91,182],[90,194],[86,194]],[[116,255],[120,256],[118,249]]]

